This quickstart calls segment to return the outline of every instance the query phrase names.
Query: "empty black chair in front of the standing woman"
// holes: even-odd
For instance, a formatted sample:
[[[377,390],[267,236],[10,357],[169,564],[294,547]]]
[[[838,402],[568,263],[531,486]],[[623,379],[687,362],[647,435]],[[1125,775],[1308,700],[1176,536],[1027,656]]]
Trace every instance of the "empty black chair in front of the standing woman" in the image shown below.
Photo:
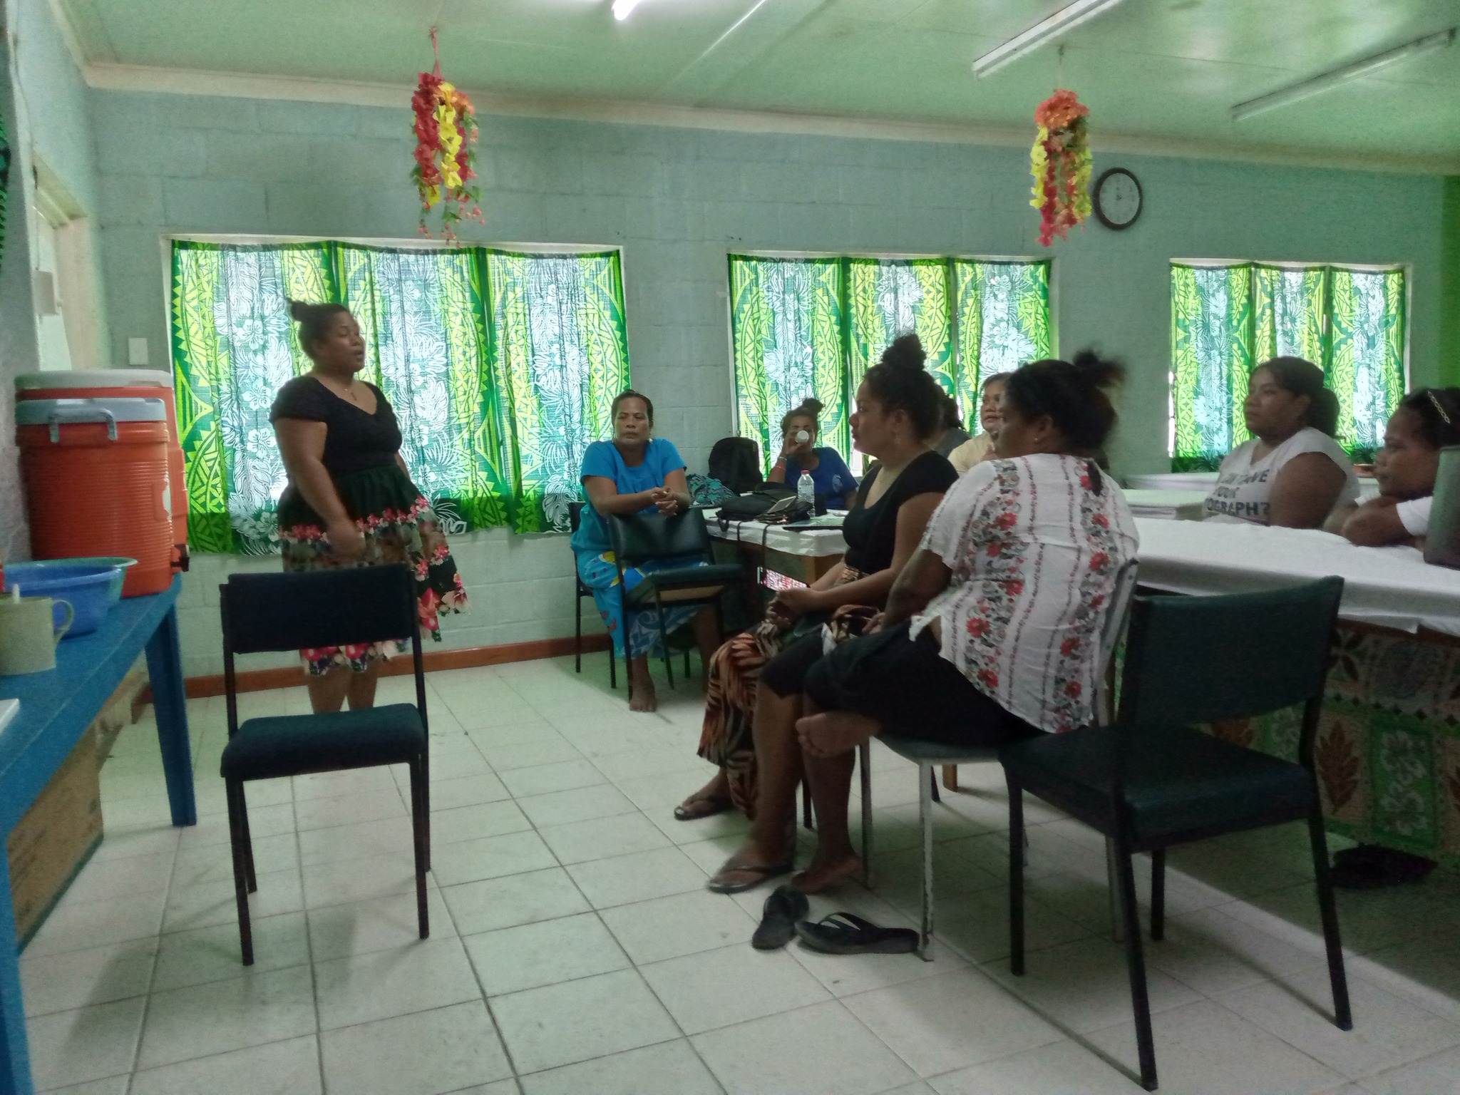
[[[228,788],[228,832],[238,898],[238,939],[244,965],[254,962],[248,895],[258,889],[244,784],[311,772],[404,764],[410,766],[410,816],[416,858],[416,915],[420,937],[431,870],[429,734],[426,677],[420,658],[416,583],[406,566],[356,566],[308,574],[231,574],[219,585],[223,623],[223,686],[228,745],[222,777]],[[235,654],[308,650],[410,638],[416,702],[388,704],[327,715],[250,718],[238,724]]]

